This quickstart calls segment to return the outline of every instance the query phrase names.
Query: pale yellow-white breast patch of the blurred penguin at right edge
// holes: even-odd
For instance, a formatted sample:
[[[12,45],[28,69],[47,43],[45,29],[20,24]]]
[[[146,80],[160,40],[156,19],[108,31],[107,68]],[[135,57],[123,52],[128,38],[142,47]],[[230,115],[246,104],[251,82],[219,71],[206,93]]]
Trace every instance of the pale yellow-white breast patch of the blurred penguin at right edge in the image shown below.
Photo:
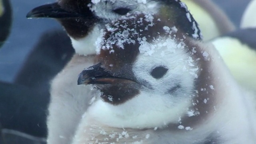
[[[234,78],[245,88],[256,91],[256,51],[230,37],[218,38],[212,43]]]

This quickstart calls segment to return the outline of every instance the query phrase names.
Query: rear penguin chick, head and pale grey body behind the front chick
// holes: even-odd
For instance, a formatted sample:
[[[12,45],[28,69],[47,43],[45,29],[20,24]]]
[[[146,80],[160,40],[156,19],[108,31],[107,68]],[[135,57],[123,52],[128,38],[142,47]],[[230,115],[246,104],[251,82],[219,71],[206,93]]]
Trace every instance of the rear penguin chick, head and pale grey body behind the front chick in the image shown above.
[[[95,13],[98,12],[99,14],[110,14],[110,16],[113,15],[114,17],[111,17],[110,19],[100,20],[98,20],[98,18],[96,17],[96,19],[92,19],[88,23],[88,21],[90,20],[90,16],[94,16],[94,11],[92,12],[88,7],[84,7],[87,6],[87,4],[84,5],[85,3],[83,3],[85,1],[77,1],[78,3],[72,3],[73,1],[68,2],[70,2],[68,4],[70,4],[71,7],[66,6],[67,3],[65,3],[65,1],[62,1],[62,3],[59,2],[55,3],[54,5],[50,4],[42,6],[40,8],[36,8],[36,10],[32,10],[32,12],[29,14],[30,16],[32,15],[38,17],[56,17],[61,22],[66,22],[65,24],[67,25],[65,26],[67,27],[65,27],[65,29],[68,34],[71,36],[77,36],[76,40],[73,41],[73,46],[78,44],[79,48],[81,48],[76,49],[78,47],[75,47],[76,53],[80,55],[75,55],[70,63],[68,63],[68,65],[64,68],[64,70],[52,80],[52,88],[50,92],[51,100],[49,105],[49,116],[47,122],[48,144],[70,144],[70,141],[72,140],[74,132],[77,128],[78,122],[90,105],[90,98],[94,96],[94,93],[90,89],[90,86],[77,86],[76,79],[78,77],[78,74],[83,70],[83,68],[91,66],[94,62],[96,54],[96,47],[94,43],[100,35],[100,31],[98,30],[98,28],[104,28],[104,24],[106,24],[106,22],[110,22],[110,20],[120,17],[120,15],[113,14],[112,9],[106,13],[95,11]],[[164,17],[178,24],[180,26],[180,29],[188,34],[188,37],[198,40],[201,39],[201,33],[198,28],[198,24],[196,23],[192,15],[188,12],[186,5],[179,0],[149,1],[145,4],[138,3],[137,0],[130,0],[129,2],[131,3],[128,3],[124,0],[116,2],[106,1],[106,3],[101,2],[101,5],[97,6],[106,6],[106,8],[117,8],[117,6],[121,6],[124,4],[134,4],[133,6],[131,6],[131,8],[134,8],[134,10],[146,10],[147,8],[149,8],[147,9],[148,11],[159,10],[154,12],[161,12],[162,9],[168,9],[172,14],[163,14]],[[159,6],[162,6],[163,3],[165,4],[164,7],[162,7],[162,9],[157,9]],[[75,9],[76,11],[74,11],[74,9],[64,10],[63,8],[77,9]],[[96,10],[106,10],[106,8],[95,7]],[[134,12],[134,10],[132,12]],[[120,11],[117,10],[117,12]],[[69,16],[69,18],[66,18],[66,16]],[[94,20],[96,20],[96,23],[94,23]],[[91,28],[95,28],[95,30],[97,30],[90,31]],[[93,34],[91,32],[93,32]],[[83,38],[85,38],[86,40]],[[74,45],[74,43],[76,44]]]

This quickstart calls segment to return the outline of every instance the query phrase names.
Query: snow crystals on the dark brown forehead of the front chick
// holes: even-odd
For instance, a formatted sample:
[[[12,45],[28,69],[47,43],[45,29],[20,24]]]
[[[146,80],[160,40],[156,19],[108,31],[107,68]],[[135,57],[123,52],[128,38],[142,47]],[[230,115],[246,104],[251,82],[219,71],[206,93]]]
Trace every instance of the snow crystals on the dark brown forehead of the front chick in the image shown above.
[[[143,26],[144,29],[137,30],[136,28],[129,28],[128,22],[132,19],[136,19],[138,15],[143,14],[143,18],[139,18],[135,22],[135,26],[143,26],[143,20],[148,23],[148,25]],[[146,38],[140,38],[140,32],[148,30],[148,27],[154,26],[154,16],[151,13],[146,12],[135,12],[134,14],[127,14],[122,16],[119,20],[113,21],[110,24],[106,24],[106,30],[101,30],[101,37],[96,41],[96,52],[100,53],[100,50],[110,50],[114,52],[113,45],[118,46],[119,48],[124,49],[124,44],[135,44],[136,40],[132,39],[138,37],[138,41],[141,44],[147,43]],[[121,24],[120,24],[121,23]],[[104,36],[108,34],[110,38],[104,39]]]

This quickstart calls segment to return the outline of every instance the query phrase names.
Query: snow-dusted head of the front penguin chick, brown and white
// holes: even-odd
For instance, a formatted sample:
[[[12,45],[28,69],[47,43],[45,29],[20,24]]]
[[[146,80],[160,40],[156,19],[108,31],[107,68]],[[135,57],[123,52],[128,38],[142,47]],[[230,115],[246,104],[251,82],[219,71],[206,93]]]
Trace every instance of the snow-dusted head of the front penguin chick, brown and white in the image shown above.
[[[192,103],[204,57],[177,22],[135,12],[107,24],[101,34],[98,64],[82,71],[78,84],[94,85],[104,105],[125,119],[107,124],[148,128],[200,114]]]

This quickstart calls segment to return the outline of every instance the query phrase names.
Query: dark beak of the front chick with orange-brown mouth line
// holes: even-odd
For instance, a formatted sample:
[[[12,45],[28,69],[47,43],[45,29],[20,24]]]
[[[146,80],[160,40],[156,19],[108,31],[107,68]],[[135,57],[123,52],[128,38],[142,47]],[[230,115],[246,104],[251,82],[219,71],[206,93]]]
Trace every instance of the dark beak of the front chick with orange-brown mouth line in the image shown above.
[[[112,72],[100,67],[101,63],[90,66],[83,70],[77,80],[77,84],[118,84],[118,83],[136,83],[126,78],[113,76]]]

